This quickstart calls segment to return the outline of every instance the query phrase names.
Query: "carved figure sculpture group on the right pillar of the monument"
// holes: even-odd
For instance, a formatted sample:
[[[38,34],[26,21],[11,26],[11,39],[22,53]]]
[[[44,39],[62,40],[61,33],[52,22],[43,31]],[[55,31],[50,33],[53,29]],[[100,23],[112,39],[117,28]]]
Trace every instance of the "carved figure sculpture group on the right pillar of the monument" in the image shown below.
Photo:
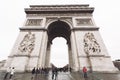
[[[98,54],[101,52],[100,45],[93,33],[86,33],[84,36],[84,51],[86,54]]]

